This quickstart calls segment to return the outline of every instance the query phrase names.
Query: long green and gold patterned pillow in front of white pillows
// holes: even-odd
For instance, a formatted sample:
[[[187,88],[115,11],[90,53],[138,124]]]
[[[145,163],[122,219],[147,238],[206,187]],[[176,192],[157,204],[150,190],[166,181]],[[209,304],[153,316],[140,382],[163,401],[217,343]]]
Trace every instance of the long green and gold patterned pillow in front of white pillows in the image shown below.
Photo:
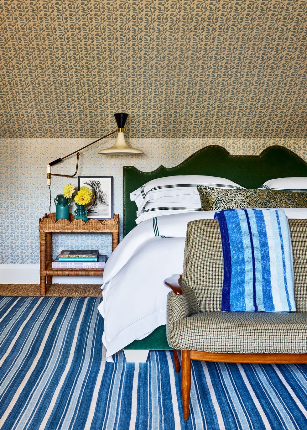
[[[235,208],[307,208],[307,193],[281,190],[233,190],[197,185],[202,211]]]

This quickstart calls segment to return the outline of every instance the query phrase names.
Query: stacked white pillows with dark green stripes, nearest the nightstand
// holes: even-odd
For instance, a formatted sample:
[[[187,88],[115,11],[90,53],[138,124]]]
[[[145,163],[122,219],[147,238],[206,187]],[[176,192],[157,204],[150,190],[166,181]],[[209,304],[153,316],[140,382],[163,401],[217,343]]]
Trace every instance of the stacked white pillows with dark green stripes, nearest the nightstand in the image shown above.
[[[130,199],[135,201],[138,207],[136,223],[160,215],[200,211],[197,185],[244,189],[229,179],[207,175],[178,175],[153,179],[130,194]]]

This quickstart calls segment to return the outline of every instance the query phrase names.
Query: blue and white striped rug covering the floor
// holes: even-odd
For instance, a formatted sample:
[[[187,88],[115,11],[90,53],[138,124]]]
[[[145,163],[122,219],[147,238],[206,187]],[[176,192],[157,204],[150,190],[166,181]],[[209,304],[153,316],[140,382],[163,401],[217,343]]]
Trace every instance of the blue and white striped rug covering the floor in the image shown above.
[[[101,298],[0,298],[1,430],[307,428],[307,365],[193,362],[183,420],[172,352],[104,361]]]

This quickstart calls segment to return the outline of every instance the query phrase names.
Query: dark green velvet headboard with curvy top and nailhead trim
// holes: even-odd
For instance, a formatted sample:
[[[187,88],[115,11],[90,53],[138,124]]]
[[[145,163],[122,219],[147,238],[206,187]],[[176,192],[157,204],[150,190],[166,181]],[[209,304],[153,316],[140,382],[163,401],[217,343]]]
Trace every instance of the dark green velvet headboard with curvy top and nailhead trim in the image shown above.
[[[136,205],[130,193],[155,178],[173,175],[211,175],[228,178],[246,188],[258,188],[273,178],[307,176],[307,163],[282,146],[271,146],[260,155],[230,155],[218,145],[211,145],[190,155],[178,166],[158,167],[141,172],[133,166],[123,167],[123,233],[135,227]]]

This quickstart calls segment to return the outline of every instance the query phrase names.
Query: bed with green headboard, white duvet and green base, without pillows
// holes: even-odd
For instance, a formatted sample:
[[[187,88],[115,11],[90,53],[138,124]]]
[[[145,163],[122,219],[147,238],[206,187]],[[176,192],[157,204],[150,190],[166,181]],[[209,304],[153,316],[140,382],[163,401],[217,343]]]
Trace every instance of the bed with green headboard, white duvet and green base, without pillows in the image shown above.
[[[280,146],[269,147],[258,156],[233,156],[223,147],[211,145],[170,169],[160,166],[153,172],[141,172],[125,166],[124,238],[107,261],[102,287],[104,300],[98,308],[104,317],[102,340],[107,348],[107,361],[112,361],[112,355],[122,348],[129,361],[144,361],[147,350],[171,349],[166,341],[168,290],[163,280],[182,271],[187,222],[213,218],[215,211],[193,210],[191,203],[188,210],[178,213],[169,211],[170,208],[166,212],[153,211],[136,225],[138,208],[130,200],[130,194],[149,181],[183,175],[227,178],[239,187],[257,189],[274,178],[307,177],[307,163]],[[307,209],[292,208],[285,212],[289,218],[307,218]],[[136,351],[144,354],[131,355]]]

